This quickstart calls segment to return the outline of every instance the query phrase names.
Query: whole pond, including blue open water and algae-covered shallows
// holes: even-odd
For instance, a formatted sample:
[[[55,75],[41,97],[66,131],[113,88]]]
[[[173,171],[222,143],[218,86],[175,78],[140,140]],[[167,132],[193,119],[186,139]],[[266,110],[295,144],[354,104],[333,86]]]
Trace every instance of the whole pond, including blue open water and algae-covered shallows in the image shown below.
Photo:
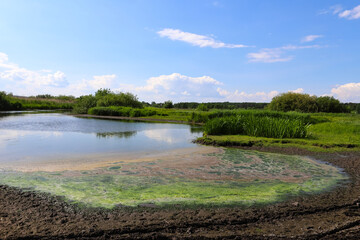
[[[193,144],[201,134],[183,124],[3,113],[0,184],[113,208],[269,204],[347,179],[306,157]]]

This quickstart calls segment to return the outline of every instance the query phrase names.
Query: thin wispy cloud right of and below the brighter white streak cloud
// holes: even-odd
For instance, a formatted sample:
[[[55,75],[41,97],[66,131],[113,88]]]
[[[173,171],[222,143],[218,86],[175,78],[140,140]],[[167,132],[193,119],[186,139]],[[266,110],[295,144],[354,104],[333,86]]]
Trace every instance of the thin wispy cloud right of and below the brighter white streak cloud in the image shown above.
[[[288,62],[292,60],[293,56],[286,56],[288,51],[321,48],[319,45],[296,46],[286,45],[278,48],[263,48],[258,52],[248,53],[247,57],[249,62],[262,62],[262,63],[275,63],[275,62]]]

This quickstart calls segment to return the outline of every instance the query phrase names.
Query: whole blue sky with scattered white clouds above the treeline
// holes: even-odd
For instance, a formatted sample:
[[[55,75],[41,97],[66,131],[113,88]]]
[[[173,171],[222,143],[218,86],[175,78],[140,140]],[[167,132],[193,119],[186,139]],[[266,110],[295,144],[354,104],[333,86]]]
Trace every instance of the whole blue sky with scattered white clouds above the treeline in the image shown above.
[[[360,102],[359,0],[0,0],[0,91]]]

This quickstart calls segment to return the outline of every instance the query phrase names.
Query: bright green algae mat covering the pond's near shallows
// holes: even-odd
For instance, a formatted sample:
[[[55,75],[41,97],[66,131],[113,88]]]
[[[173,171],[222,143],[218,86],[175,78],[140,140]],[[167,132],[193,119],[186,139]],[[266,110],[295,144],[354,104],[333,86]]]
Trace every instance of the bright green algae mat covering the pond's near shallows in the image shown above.
[[[231,175],[230,180],[194,179],[186,175],[142,176],[114,166],[103,174],[93,171],[73,175],[3,172],[0,184],[64,196],[73,203],[90,207],[113,208],[119,204],[138,206],[142,203],[248,207],[328,191],[347,179],[335,167],[299,156],[238,149],[225,149],[223,154],[215,156],[222,164],[212,166],[214,171],[209,173],[218,177]],[[247,179],[249,172],[267,177],[260,175],[256,179]],[[286,174],[296,181],[279,180]]]

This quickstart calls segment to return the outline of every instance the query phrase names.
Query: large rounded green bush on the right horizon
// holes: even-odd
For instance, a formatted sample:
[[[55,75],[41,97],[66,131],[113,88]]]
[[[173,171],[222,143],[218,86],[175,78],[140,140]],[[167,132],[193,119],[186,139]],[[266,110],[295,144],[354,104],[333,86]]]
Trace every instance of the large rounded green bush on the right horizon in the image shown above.
[[[318,111],[316,96],[293,92],[283,93],[274,97],[268,108],[283,112],[298,111],[308,113]]]

